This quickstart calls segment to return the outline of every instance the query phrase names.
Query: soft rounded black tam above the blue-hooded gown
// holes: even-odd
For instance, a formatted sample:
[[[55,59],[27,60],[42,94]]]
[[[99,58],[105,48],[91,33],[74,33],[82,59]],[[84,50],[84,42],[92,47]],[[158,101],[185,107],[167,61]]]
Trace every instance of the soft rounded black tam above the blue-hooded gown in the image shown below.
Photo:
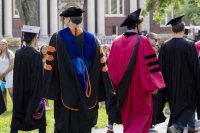
[[[63,17],[80,17],[84,11],[78,7],[69,7],[65,11],[60,13]]]

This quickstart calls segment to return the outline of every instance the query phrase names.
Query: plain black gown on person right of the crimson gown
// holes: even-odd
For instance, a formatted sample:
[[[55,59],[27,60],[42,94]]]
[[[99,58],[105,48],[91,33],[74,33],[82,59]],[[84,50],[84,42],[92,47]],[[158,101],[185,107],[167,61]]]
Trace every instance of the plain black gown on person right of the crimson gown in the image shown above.
[[[165,80],[170,107],[171,126],[184,110],[189,110],[185,121],[191,119],[198,100],[198,57],[195,45],[185,38],[172,38],[165,42],[159,53],[160,68]]]

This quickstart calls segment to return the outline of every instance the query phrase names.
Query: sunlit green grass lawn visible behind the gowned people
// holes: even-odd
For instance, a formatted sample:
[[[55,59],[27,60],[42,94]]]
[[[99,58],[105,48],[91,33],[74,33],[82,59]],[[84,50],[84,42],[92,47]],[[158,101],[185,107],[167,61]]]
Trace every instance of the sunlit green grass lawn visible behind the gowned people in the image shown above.
[[[8,94],[8,93],[7,93]],[[10,96],[8,98],[8,109],[7,112],[0,115],[0,133],[9,133],[10,132],[10,122],[12,118],[12,101]],[[47,133],[54,132],[54,117],[53,117],[53,102],[49,101],[51,109],[46,112],[46,119],[47,119]],[[107,114],[104,107],[100,107],[99,109],[99,116],[98,116],[98,123],[95,128],[105,127],[107,125]],[[26,133],[23,131],[19,131],[19,133]],[[38,133],[38,130],[30,131],[29,133]]]

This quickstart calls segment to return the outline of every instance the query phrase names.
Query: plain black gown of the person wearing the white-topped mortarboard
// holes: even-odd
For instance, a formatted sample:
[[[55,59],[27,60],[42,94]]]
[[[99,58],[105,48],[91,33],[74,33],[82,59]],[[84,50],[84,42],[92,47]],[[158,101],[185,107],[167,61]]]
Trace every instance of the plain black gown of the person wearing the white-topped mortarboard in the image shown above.
[[[45,113],[39,120],[32,116],[44,93],[41,54],[24,46],[15,54],[11,128],[29,131],[46,126]]]

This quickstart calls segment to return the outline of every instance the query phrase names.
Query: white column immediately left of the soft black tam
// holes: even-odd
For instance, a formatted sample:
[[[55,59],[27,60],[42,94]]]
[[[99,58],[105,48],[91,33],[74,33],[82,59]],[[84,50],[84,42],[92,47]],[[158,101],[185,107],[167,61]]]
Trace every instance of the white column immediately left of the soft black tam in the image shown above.
[[[58,3],[57,0],[50,0],[50,33],[58,30]]]

